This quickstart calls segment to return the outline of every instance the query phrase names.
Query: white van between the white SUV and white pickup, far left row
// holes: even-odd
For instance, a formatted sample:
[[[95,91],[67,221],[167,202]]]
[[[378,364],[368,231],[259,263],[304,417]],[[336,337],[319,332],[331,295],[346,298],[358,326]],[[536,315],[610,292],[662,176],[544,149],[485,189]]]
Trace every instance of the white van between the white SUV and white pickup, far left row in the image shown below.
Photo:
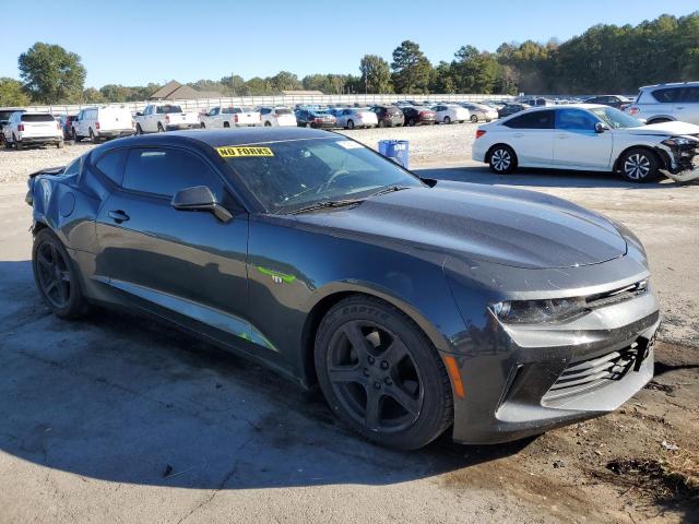
[[[126,106],[99,106],[83,109],[73,121],[72,136],[75,142],[90,138],[115,139],[135,133],[135,123]]]

